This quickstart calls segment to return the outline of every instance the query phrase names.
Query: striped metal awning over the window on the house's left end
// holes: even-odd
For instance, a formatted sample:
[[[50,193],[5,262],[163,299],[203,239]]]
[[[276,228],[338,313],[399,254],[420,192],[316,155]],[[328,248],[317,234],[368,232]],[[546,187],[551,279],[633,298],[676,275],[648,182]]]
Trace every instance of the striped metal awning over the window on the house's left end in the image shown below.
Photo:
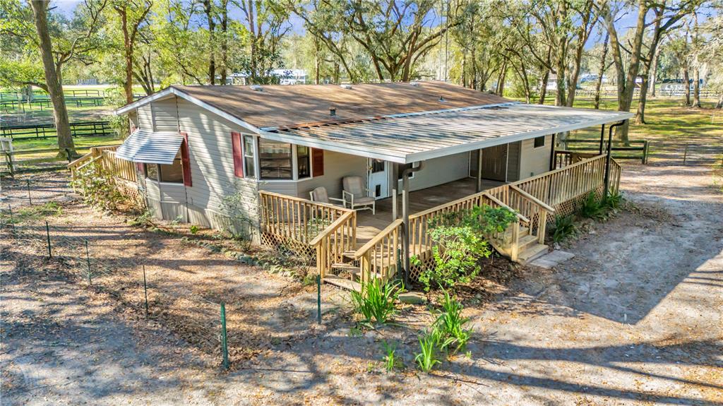
[[[132,162],[171,165],[183,136],[174,132],[137,129],[116,150],[116,157]]]

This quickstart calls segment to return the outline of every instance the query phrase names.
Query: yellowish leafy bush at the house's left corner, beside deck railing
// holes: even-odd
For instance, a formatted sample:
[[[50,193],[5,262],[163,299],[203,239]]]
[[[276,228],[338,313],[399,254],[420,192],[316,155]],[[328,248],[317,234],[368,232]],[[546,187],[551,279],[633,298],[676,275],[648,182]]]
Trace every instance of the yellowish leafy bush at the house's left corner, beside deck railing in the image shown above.
[[[77,170],[70,183],[75,189],[80,189],[85,203],[91,206],[116,210],[119,204],[127,201],[116,188],[114,177],[107,170],[103,170],[98,162]]]

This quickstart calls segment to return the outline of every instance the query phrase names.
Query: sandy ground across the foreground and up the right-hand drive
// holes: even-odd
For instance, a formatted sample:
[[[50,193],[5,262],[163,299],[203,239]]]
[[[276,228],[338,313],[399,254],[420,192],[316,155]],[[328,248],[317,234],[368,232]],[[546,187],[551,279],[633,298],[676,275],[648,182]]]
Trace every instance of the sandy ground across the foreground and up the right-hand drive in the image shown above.
[[[525,269],[491,302],[468,303],[469,356],[430,375],[413,361],[430,319],[423,307],[406,308],[400,326],[361,335],[333,307],[322,327],[264,315],[301,338],[269,340],[225,373],[54,263],[21,270],[3,243],[2,403],[723,405],[723,195],[711,184],[706,168],[627,165],[623,190],[635,208],[565,246],[577,255],[570,262]],[[246,268],[223,278],[240,278],[230,285],[249,294],[288,283]],[[337,291],[324,294],[338,303]],[[303,308],[305,322],[310,300],[285,294],[278,311]],[[382,372],[382,340],[398,342],[405,371]]]

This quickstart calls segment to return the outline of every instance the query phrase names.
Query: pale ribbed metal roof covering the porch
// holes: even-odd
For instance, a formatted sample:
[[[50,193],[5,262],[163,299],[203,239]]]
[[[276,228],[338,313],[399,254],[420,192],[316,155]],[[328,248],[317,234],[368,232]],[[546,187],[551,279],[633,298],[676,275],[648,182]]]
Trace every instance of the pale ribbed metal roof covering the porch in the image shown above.
[[[339,124],[268,129],[264,138],[412,163],[633,117],[622,111],[501,103]]]

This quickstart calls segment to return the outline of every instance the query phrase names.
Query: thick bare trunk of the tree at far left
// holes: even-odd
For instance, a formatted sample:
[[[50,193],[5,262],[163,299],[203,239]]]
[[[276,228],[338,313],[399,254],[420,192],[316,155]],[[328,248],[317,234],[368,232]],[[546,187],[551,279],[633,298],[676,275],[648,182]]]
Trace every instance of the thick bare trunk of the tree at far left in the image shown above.
[[[55,121],[55,129],[58,134],[58,156],[74,157],[76,156],[73,137],[70,134],[70,123],[68,120],[68,110],[65,106],[65,97],[63,95],[63,84],[59,75],[59,66],[53,58],[53,44],[51,43],[50,34],[48,33],[48,12],[46,7],[48,3],[42,0],[30,1],[33,8],[33,18],[35,20],[35,29],[38,30],[38,40],[40,41],[40,56],[43,59],[43,69],[45,71],[46,85],[48,85],[48,94],[53,103],[53,116]]]

